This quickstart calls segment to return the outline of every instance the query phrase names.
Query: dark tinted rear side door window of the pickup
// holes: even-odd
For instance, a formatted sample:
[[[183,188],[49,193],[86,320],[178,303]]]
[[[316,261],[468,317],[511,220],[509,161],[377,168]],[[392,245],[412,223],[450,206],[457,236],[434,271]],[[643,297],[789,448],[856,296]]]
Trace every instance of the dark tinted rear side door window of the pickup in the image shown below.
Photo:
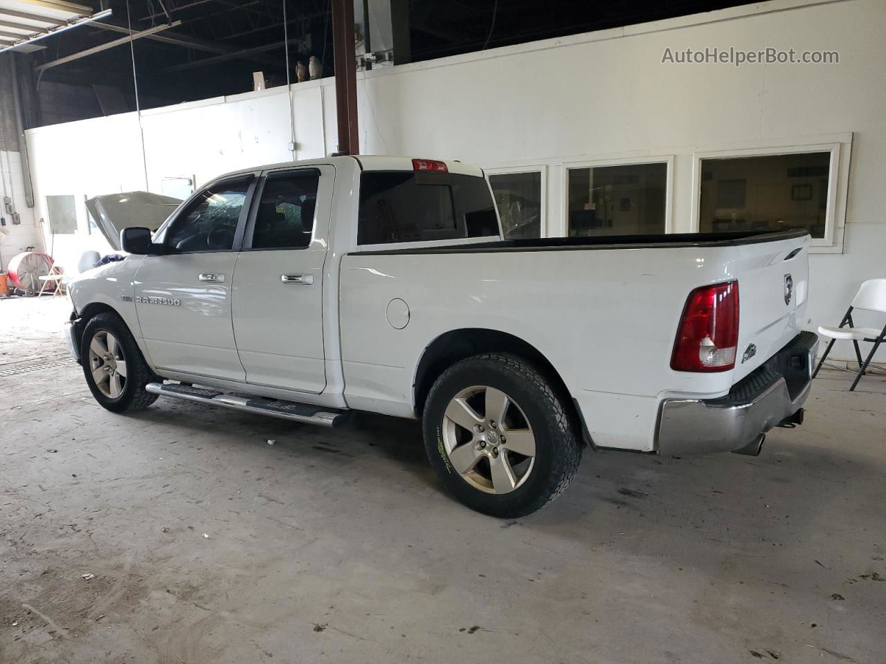
[[[268,177],[255,215],[253,249],[301,249],[311,243],[319,182],[316,171]]]

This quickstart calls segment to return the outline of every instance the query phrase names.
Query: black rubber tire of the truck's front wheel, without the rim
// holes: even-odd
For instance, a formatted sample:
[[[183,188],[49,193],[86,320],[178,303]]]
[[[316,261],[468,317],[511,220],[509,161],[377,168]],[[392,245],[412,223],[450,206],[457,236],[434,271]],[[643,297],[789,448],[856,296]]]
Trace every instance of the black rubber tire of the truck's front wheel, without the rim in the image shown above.
[[[106,331],[113,334],[123,349],[126,358],[127,376],[123,390],[118,398],[109,398],[98,389],[92,372],[89,369],[89,344],[98,332]],[[158,395],[144,389],[144,386],[158,380],[144,361],[142,351],[126,323],[116,313],[98,313],[87,321],[83,328],[83,336],[80,344],[80,362],[83,367],[83,375],[86,384],[96,401],[113,413],[134,413],[144,410],[157,400]]]

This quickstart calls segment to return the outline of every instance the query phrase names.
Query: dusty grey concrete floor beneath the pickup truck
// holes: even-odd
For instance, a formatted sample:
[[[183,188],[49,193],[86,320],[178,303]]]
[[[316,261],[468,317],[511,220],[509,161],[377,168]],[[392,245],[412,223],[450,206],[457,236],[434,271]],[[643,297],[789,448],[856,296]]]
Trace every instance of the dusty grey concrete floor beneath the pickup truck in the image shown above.
[[[63,356],[66,312],[0,302],[0,371]],[[0,661],[882,662],[886,379],[849,382],[757,459],[588,452],[495,521],[415,422],[123,417],[74,364],[0,377]]]

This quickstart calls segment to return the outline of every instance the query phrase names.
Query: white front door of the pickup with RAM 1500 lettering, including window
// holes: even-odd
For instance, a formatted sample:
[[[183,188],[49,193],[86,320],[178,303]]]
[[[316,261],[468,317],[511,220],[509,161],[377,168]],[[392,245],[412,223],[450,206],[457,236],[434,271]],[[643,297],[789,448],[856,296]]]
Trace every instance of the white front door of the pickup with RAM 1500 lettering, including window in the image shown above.
[[[230,284],[242,243],[252,175],[214,183],[159,231],[159,255],[136,272],[144,344],[161,369],[244,381],[231,328]]]

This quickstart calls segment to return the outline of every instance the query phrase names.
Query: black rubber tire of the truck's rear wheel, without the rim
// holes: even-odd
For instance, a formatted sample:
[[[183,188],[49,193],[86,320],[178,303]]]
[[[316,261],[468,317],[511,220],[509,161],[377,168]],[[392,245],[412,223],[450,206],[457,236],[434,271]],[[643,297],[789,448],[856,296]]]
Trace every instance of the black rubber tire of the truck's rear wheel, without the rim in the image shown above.
[[[535,435],[535,465],[525,483],[495,495],[471,486],[452,467],[443,441],[444,413],[452,398],[473,385],[487,385],[514,398]],[[439,375],[424,405],[424,446],[431,467],[459,501],[501,519],[525,516],[559,496],[579,469],[581,444],[574,418],[551,383],[525,359],[506,353],[476,355]]]

